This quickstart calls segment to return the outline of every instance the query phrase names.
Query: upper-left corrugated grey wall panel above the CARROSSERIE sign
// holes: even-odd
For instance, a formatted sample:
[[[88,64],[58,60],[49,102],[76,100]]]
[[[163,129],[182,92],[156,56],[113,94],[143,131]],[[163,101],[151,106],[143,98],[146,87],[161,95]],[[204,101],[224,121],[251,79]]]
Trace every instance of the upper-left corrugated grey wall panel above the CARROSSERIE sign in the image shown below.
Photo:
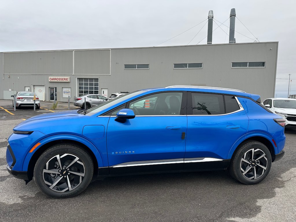
[[[72,51],[4,53],[5,74],[72,74]]]

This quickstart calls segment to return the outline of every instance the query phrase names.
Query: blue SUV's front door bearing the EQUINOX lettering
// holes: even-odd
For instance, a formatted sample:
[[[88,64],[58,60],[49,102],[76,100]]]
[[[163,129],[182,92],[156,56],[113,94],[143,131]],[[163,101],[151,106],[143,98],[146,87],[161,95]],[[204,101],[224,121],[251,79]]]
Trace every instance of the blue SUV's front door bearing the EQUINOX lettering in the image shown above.
[[[167,97],[171,97],[168,103]],[[150,99],[155,104],[150,106]],[[135,112],[134,119],[119,123],[115,121],[116,116],[111,116],[108,123],[110,174],[182,170],[187,129],[186,93],[150,94],[128,102],[127,108]]]

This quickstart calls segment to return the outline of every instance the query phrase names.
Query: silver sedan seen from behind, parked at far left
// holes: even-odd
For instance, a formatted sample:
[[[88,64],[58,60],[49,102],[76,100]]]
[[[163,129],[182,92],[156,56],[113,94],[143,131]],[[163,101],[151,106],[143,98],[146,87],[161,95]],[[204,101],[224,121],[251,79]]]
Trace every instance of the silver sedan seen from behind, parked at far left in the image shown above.
[[[34,95],[36,97],[35,106],[36,109],[40,109],[40,100],[34,92],[17,92],[15,95],[11,95],[15,98],[15,108],[21,107],[33,107],[34,108]],[[12,106],[14,107],[14,99],[12,99]]]

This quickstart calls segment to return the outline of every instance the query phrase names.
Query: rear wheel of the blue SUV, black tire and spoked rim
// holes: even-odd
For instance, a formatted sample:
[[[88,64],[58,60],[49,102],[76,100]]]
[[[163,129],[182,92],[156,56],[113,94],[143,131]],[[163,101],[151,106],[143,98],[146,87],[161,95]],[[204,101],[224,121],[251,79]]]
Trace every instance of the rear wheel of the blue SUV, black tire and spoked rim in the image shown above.
[[[243,184],[258,184],[266,178],[270,168],[271,154],[268,148],[258,141],[248,141],[234,153],[229,172]]]

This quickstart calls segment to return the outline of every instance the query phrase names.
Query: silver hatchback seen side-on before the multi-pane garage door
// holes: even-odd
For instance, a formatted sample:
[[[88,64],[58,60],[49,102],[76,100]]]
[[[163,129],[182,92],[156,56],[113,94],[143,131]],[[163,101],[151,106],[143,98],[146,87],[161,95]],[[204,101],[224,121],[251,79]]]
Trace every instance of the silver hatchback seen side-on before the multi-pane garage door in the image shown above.
[[[84,107],[84,98],[86,98],[86,107]],[[102,104],[108,101],[108,98],[97,94],[87,94],[74,98],[74,106],[79,106],[81,108],[89,109],[96,105]]]

